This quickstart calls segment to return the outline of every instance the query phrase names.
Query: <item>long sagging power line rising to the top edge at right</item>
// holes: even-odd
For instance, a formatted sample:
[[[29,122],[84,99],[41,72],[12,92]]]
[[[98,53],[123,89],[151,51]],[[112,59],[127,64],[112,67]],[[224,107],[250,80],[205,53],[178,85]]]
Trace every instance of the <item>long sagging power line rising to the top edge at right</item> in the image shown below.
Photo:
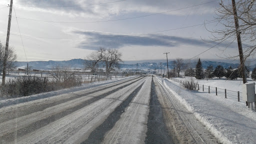
[[[33,20],[33,21],[42,21],[42,22],[54,22],[54,23],[96,23],[96,22],[108,22],[108,21],[119,21],[119,20],[127,20],[127,19],[134,19],[134,18],[146,17],[146,16],[151,16],[151,15],[157,15],[157,14],[177,11],[177,10],[181,10],[181,9],[186,9],[186,8],[190,8],[190,7],[195,7],[195,6],[198,6],[198,5],[203,5],[203,4],[207,4],[207,3],[215,2],[215,1],[217,1],[217,0],[205,2],[205,3],[201,3],[201,4],[197,4],[197,5],[187,6],[187,7],[183,7],[183,8],[178,8],[178,9],[174,9],[174,10],[168,10],[168,11],[164,11],[164,12],[153,13],[153,14],[147,14],[147,15],[141,15],[141,16],[135,16],[135,17],[128,17],[128,18],[120,18],[120,19],[112,19],[112,20],[101,20],[101,21],[68,22],[68,21],[39,20],[39,19],[31,19],[31,18],[23,18],[23,17],[17,17],[17,18],[25,19],[25,20]]]

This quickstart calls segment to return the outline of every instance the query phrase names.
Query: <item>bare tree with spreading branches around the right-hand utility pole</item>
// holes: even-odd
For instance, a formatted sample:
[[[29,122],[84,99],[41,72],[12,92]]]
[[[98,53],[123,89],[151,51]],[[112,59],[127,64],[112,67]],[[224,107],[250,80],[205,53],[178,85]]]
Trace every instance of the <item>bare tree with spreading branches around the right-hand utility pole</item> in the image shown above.
[[[220,7],[216,9],[219,29],[209,30],[212,39],[224,43],[228,47],[235,40],[238,41],[239,54],[226,55],[225,58],[240,58],[239,71],[244,73],[245,60],[254,55],[256,50],[256,4],[255,0],[220,0]],[[242,44],[241,44],[242,43]],[[244,76],[243,76],[244,77]],[[246,78],[243,78],[246,82]]]

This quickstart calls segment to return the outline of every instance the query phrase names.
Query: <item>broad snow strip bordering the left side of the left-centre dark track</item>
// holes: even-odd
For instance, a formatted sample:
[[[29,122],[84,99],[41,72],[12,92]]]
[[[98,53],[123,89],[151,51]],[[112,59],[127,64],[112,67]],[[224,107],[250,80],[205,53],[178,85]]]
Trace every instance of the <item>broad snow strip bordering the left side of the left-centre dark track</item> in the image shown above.
[[[42,128],[19,137],[20,143],[80,143],[142,82],[128,85]]]

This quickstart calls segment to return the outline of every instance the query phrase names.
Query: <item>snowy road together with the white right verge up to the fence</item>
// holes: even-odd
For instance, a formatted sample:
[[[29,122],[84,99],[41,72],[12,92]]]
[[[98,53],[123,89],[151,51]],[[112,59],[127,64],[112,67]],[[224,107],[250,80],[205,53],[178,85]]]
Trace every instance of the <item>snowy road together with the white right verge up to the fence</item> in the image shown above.
[[[0,100],[0,143],[254,143],[256,112],[139,75]]]

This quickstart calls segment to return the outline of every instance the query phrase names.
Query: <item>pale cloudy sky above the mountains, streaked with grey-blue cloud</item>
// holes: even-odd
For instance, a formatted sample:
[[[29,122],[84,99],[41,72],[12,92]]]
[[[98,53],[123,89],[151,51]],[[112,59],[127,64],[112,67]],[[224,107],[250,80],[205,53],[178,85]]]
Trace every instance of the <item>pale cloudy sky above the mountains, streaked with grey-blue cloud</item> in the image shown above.
[[[0,0],[0,8],[5,6],[0,9],[3,44],[9,1]],[[84,58],[98,47],[118,48],[124,61],[165,59],[163,52],[170,52],[171,59],[189,59],[216,44],[206,42],[211,33],[205,28],[217,28],[215,23],[190,26],[214,19],[218,0],[13,0],[13,4],[16,16],[13,10],[9,45],[19,61]],[[213,47],[191,60],[238,53],[235,44],[222,49]]]

